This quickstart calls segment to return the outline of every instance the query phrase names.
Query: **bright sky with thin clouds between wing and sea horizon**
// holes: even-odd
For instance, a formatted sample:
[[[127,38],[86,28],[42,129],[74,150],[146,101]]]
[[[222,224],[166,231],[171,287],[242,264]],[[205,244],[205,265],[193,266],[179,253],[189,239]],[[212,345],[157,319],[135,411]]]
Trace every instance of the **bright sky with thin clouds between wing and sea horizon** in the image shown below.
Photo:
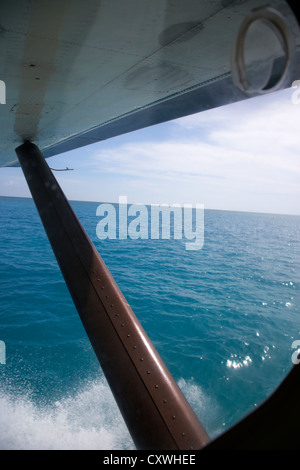
[[[297,91],[298,90],[298,91]],[[300,215],[299,89],[256,97],[47,159],[70,200],[204,204]],[[0,195],[30,197],[20,168]]]

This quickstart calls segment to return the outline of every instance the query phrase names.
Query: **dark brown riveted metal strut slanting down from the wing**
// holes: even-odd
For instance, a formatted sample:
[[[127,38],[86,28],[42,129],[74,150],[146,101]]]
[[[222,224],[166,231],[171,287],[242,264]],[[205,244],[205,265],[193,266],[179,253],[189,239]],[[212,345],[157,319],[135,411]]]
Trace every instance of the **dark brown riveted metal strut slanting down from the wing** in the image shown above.
[[[16,149],[100,366],[137,449],[200,449],[208,435],[82,227],[39,148]]]

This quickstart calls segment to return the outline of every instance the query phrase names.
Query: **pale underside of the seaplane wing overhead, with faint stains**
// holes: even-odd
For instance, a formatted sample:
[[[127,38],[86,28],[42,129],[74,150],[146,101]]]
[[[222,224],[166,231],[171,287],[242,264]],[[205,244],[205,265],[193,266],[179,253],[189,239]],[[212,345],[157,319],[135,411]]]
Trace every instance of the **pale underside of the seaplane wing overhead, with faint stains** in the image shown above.
[[[269,7],[261,0],[1,2],[0,166],[18,165],[15,148],[27,140],[50,157],[247,98],[264,88],[249,89],[248,66],[275,88],[290,86],[300,76],[299,25],[292,2]],[[239,46],[267,10],[277,14],[261,19],[274,41],[267,36],[257,47],[254,40],[247,62]]]

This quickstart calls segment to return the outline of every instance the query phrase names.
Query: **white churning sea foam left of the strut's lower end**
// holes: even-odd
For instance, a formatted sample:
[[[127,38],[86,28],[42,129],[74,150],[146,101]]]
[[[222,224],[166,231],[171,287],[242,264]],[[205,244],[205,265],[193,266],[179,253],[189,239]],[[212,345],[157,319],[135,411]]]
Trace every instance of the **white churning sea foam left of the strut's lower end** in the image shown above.
[[[2,393],[0,415],[2,450],[135,448],[103,379],[47,406],[34,403],[30,396]]]

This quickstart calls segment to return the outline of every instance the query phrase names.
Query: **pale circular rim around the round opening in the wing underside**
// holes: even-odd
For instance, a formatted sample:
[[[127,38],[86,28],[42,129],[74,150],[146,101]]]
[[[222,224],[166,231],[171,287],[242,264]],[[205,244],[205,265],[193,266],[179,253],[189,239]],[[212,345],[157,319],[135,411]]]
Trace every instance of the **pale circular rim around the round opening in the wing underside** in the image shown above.
[[[259,86],[251,83],[245,60],[247,36],[253,26],[269,28],[269,32],[271,31],[275,36],[275,41],[277,38],[277,43],[280,44],[284,55],[284,64],[281,65],[279,72],[276,70],[275,81],[272,74],[275,68],[275,61],[273,61],[271,72],[264,78],[264,83]],[[261,48],[263,47],[266,47],[266,44],[261,43]],[[232,50],[231,68],[235,86],[247,95],[262,95],[283,88],[288,84],[293,53],[294,44],[290,27],[283,15],[272,7],[254,9],[241,24]],[[263,60],[261,62],[263,63]]]

